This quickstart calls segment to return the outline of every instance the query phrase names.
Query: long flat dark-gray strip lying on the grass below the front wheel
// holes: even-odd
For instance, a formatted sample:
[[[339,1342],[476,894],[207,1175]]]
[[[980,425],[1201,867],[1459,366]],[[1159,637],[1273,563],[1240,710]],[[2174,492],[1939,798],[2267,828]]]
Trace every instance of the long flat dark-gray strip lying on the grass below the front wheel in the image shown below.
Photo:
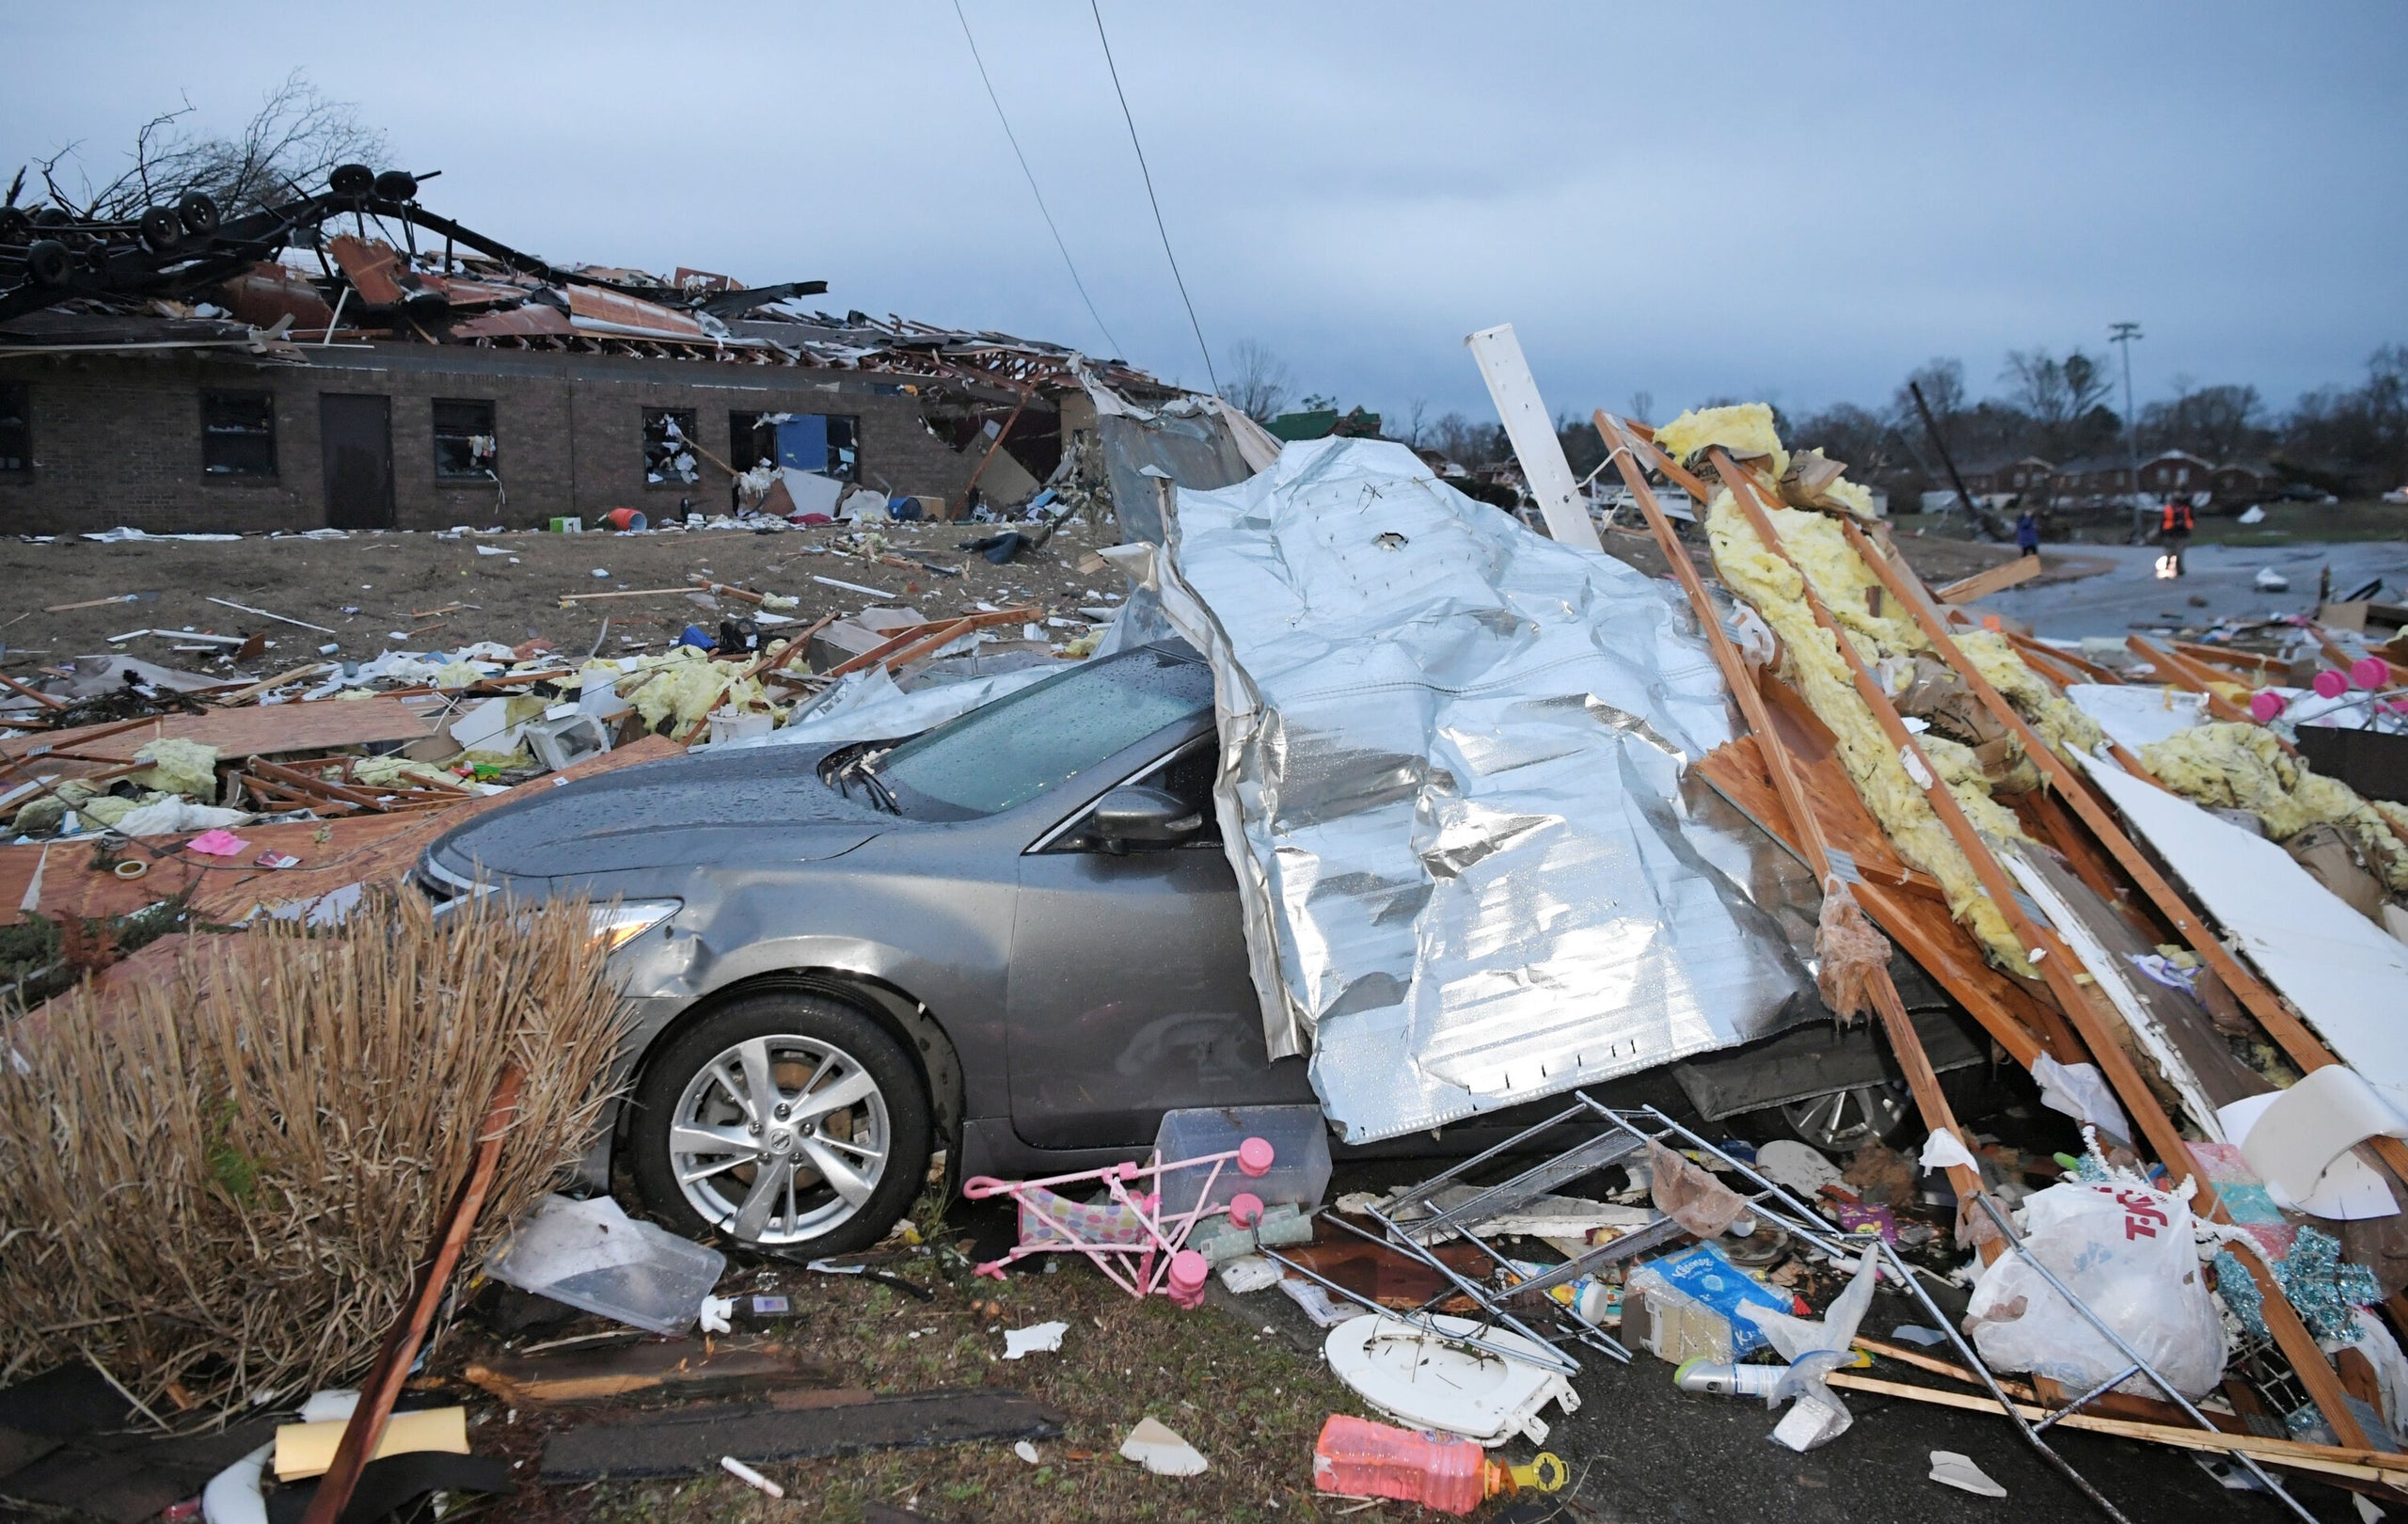
[[[715,1471],[722,1454],[759,1464],[968,1440],[1052,1440],[1064,1423],[1045,1404],[999,1387],[874,1396],[802,1411],[713,1404],[556,1433],[544,1442],[542,1476],[701,1476]]]

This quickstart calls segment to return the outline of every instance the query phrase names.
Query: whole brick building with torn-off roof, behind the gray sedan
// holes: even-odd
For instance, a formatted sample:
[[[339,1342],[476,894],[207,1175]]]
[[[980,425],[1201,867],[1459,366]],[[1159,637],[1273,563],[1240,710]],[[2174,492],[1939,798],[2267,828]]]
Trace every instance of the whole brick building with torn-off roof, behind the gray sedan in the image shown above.
[[[1038,491],[1079,445],[1064,414],[1093,431],[1088,378],[1175,395],[1060,344],[802,313],[821,282],[554,267],[354,169],[140,258],[99,224],[36,229],[84,255],[0,277],[0,532],[665,520],[727,513],[763,462],[744,503],[833,506],[802,472],[961,515]],[[441,253],[337,231],[347,212]]]

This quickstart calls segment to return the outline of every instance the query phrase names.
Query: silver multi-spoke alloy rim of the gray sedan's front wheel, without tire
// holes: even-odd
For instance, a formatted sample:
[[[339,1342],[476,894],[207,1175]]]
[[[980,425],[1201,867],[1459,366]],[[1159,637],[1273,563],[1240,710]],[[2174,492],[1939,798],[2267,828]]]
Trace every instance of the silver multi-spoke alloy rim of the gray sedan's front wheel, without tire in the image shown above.
[[[768,1247],[821,1240],[877,1194],[893,1153],[886,1093],[843,1047],[746,1038],[686,1081],[669,1168],[713,1228]]]

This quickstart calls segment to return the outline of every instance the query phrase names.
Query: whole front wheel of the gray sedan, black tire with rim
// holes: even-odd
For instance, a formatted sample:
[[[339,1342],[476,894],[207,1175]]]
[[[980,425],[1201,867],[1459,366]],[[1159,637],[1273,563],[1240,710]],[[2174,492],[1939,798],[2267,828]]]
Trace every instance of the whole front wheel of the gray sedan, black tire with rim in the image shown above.
[[[763,1074],[775,1100],[756,1107]],[[845,1105],[811,1110],[831,1095]],[[636,1083],[628,1127],[653,1216],[795,1257],[886,1237],[934,1148],[927,1086],[903,1045],[855,1006],[795,990],[737,997],[669,1038]]]

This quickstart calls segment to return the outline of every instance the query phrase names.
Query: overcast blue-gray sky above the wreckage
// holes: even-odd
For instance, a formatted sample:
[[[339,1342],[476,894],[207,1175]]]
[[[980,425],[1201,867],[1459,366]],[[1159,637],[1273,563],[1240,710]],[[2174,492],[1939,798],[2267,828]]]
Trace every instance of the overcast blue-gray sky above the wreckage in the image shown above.
[[[1202,385],[1096,22],[963,0],[1096,311]],[[349,17],[349,19],[340,19]],[[1216,5],[1105,0],[1216,364],[1486,414],[1512,323],[1558,409],[1881,402],[1953,354],[2102,347],[2288,404],[2408,342],[2401,5]],[[113,171],[291,67],[424,200],[561,262],[824,277],[831,311],[1110,352],[951,0],[486,12],[0,10],[0,154]]]

